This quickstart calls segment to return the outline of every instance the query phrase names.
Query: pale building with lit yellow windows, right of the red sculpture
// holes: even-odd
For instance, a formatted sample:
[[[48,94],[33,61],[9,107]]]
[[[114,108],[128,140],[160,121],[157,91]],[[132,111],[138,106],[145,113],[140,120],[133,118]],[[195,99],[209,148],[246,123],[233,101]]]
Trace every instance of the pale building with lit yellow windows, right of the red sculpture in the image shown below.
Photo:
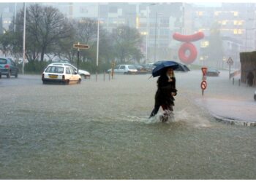
[[[217,65],[219,68],[227,68],[227,58],[232,58],[234,68],[240,68],[239,52],[253,51],[256,49],[255,4],[252,3],[223,3],[222,7],[195,7],[195,21],[193,28],[203,31],[206,37],[210,34],[212,23],[219,24],[222,37],[223,58]],[[205,40],[201,49],[206,48]],[[203,62],[207,55],[200,55],[199,63]],[[211,60],[210,60],[211,61]],[[221,63],[223,61],[224,63]]]

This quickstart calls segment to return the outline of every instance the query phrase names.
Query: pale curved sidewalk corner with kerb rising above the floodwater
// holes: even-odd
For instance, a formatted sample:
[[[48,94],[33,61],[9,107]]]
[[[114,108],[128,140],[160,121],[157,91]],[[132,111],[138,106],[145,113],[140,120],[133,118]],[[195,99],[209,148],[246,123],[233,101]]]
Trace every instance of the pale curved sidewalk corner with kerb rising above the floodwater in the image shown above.
[[[206,108],[220,122],[256,126],[256,102],[253,99],[247,101],[197,98],[195,102]]]

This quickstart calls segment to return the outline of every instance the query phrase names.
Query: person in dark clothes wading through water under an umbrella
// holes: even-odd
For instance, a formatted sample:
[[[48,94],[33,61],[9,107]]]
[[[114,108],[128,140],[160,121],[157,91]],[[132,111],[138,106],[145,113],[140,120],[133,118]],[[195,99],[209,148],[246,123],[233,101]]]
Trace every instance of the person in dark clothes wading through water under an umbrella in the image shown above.
[[[178,91],[176,90],[176,79],[173,69],[166,68],[165,70],[166,71],[162,71],[163,74],[161,74],[157,80],[154,109],[149,117],[151,118],[152,116],[155,116],[159,111],[160,106],[162,106],[162,109],[164,110],[164,115],[161,118],[162,122],[167,122],[168,116],[173,112],[175,100],[173,96],[176,96]]]

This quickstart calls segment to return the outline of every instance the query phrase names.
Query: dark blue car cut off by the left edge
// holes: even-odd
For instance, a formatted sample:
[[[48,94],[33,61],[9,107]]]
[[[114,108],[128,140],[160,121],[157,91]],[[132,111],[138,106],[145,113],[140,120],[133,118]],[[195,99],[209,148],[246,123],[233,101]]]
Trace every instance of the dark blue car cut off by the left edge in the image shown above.
[[[7,78],[10,76],[18,77],[18,66],[11,58],[0,58],[0,71],[1,75],[6,75]]]

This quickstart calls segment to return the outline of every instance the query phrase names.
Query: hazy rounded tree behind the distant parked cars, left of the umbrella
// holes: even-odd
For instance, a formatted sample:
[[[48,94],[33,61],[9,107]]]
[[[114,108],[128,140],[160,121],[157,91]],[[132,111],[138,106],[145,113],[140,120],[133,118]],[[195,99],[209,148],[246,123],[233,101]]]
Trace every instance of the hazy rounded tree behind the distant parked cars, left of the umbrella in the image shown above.
[[[143,54],[140,51],[142,37],[136,28],[124,25],[119,26],[113,30],[112,37],[116,58],[121,63],[143,58]]]

